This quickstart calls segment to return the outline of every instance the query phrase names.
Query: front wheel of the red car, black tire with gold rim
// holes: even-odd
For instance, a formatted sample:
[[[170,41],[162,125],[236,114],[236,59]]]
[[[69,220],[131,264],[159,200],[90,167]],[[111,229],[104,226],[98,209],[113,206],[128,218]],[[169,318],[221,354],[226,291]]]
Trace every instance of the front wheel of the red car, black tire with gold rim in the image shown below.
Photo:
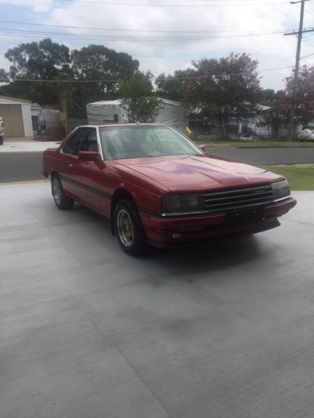
[[[147,238],[133,201],[123,199],[114,208],[114,231],[119,245],[129,256],[140,256],[147,250]]]

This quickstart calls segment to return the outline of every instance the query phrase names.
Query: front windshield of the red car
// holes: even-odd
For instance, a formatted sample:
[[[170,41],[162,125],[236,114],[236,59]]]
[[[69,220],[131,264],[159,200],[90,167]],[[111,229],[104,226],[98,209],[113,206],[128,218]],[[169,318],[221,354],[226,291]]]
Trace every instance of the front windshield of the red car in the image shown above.
[[[100,127],[100,142],[106,160],[202,154],[184,135],[169,126]]]

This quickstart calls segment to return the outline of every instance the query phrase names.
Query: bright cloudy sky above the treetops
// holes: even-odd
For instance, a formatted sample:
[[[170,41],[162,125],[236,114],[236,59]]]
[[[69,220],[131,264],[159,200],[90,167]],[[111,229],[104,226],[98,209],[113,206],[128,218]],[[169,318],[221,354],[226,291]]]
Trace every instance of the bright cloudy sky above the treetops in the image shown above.
[[[9,48],[48,37],[70,49],[93,43],[127,52],[155,76],[191,67],[192,60],[246,52],[260,63],[262,87],[278,90],[297,47],[297,37],[283,32],[297,30],[299,13],[299,4],[287,0],[0,0],[0,20],[7,21],[0,22],[0,68],[9,68]],[[304,15],[304,27],[313,26],[314,0]],[[314,65],[314,32],[302,42],[301,56],[309,54],[301,63]]]

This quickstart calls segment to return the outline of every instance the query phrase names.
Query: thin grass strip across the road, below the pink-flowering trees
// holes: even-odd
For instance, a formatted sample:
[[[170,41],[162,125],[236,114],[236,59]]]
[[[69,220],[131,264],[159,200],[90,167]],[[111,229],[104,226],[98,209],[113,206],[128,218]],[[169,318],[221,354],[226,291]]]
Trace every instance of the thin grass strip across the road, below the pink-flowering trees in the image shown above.
[[[300,142],[300,141],[209,141],[208,139],[193,139],[196,144],[204,144],[208,148],[220,148],[220,147],[234,147],[234,148],[295,148],[295,147],[309,147],[314,146],[312,142]]]

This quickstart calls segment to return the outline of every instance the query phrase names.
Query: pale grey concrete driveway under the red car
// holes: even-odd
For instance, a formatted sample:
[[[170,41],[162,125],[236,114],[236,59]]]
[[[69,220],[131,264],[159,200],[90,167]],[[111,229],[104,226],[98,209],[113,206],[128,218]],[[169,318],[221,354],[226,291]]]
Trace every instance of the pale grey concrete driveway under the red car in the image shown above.
[[[130,258],[48,184],[0,186],[1,418],[308,418],[314,193],[280,228]]]

